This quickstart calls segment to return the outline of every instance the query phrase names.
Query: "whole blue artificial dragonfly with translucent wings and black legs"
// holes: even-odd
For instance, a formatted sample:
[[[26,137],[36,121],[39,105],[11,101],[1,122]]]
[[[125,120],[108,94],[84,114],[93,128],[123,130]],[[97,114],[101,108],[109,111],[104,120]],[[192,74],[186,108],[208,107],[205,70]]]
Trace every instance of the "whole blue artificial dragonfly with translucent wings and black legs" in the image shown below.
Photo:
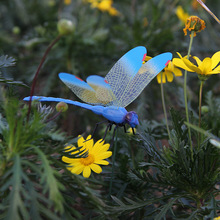
[[[92,138],[99,124],[108,122],[104,133],[105,139],[108,130],[115,125],[112,140],[118,127],[128,124],[134,132],[139,124],[138,115],[134,111],[128,112],[125,107],[133,102],[151,80],[161,72],[172,59],[172,54],[160,54],[143,64],[146,57],[146,48],[138,46],[123,55],[111,68],[105,78],[91,75],[86,82],[77,76],[60,73],[59,78],[68,86],[84,103],[69,99],[33,96],[32,100],[40,102],[65,102],[93,111],[103,116],[106,120],[96,124]],[[30,96],[24,98],[30,100]]]

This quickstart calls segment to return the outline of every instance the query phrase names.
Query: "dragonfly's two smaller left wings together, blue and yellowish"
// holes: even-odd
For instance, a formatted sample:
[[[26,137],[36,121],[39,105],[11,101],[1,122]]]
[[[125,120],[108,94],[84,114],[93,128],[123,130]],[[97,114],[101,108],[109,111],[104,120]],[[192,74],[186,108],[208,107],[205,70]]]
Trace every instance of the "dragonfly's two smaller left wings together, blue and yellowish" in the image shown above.
[[[60,73],[59,77],[84,102],[105,105],[112,101],[112,98],[108,95],[111,88],[101,76],[89,76],[87,83],[68,73]]]

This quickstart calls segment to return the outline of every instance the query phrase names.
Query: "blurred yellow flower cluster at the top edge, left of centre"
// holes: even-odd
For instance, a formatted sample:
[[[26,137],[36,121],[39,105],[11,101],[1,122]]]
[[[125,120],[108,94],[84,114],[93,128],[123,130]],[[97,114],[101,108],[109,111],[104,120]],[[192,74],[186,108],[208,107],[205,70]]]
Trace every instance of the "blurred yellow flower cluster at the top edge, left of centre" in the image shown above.
[[[108,12],[111,16],[120,15],[119,11],[112,7],[112,0],[85,0],[91,4],[92,8],[97,8],[102,12]]]

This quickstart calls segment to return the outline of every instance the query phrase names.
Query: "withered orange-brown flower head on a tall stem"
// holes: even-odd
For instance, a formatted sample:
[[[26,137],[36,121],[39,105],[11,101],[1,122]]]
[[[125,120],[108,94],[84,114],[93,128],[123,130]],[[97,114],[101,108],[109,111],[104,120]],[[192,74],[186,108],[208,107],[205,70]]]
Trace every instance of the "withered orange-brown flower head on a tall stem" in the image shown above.
[[[194,36],[196,36],[196,32],[200,32],[204,29],[205,22],[197,16],[191,16],[187,19],[183,32],[187,35],[187,30],[194,31]]]

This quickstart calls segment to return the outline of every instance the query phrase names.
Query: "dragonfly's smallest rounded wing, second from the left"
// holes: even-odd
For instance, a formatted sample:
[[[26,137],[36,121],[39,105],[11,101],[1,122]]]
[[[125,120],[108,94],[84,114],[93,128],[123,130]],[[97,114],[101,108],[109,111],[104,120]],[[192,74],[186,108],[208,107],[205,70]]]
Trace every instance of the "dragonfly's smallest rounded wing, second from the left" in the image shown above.
[[[96,98],[100,103],[106,105],[113,101],[111,87],[103,77],[91,75],[86,81],[96,91]]]

